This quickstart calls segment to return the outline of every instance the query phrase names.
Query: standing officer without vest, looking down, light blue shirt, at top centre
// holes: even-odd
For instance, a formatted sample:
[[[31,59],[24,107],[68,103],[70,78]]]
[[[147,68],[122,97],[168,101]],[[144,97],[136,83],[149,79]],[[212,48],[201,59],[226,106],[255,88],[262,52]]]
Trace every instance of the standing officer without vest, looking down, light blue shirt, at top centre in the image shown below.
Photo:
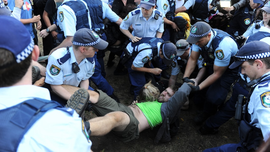
[[[132,42],[144,37],[161,38],[164,32],[163,15],[155,5],[155,0],[141,0],[140,8],[129,12],[120,25],[120,30]],[[133,31],[128,28],[132,25]]]

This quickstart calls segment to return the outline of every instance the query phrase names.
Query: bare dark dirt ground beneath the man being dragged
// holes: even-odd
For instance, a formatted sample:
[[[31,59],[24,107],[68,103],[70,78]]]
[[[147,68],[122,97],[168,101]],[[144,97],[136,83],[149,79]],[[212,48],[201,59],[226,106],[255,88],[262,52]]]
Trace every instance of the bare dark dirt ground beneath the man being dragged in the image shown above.
[[[42,52],[42,40],[39,37],[39,48]],[[120,59],[118,56],[114,59],[114,66],[106,66],[109,56],[109,51],[106,51],[104,58],[106,80],[114,88],[114,94],[119,97],[120,102],[129,105],[132,102],[133,96],[129,93],[129,81],[128,74],[123,76],[114,76],[113,71]],[[167,69],[170,73],[171,67]],[[182,74],[178,77],[178,82],[182,83]],[[91,84],[95,88],[94,84]],[[231,92],[227,99],[230,97]],[[223,124],[219,128],[219,132],[215,135],[200,135],[197,130],[200,126],[196,126],[193,122],[193,118],[196,115],[196,109],[190,97],[190,106],[188,110],[181,111],[179,120],[180,128],[178,134],[172,138],[170,142],[154,144],[153,131],[151,129],[145,130],[140,133],[139,139],[132,140],[127,143],[123,143],[118,140],[112,133],[109,133],[102,137],[90,137],[93,145],[92,150],[94,152],[201,152],[204,149],[220,146],[227,143],[238,143],[238,126],[234,118],[231,118],[228,122]],[[96,117],[92,112],[85,112],[87,118]],[[103,127],[103,126],[100,126]],[[68,134],[68,133],[67,133]]]

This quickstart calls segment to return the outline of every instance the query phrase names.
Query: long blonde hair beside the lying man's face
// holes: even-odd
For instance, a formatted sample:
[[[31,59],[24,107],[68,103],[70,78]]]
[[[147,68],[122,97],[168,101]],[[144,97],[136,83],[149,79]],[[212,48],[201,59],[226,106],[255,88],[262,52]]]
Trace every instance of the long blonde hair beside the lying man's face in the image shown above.
[[[159,94],[160,93],[158,88],[151,84],[151,81],[149,81],[143,86],[143,88],[139,92],[137,100],[138,102],[152,102],[158,99]]]

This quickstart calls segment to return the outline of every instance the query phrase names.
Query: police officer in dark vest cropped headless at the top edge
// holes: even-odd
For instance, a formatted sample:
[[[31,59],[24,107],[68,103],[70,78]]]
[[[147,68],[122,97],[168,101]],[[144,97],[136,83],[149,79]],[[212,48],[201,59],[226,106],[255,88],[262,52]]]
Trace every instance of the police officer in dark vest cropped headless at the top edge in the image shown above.
[[[198,21],[204,21],[208,23],[208,12],[210,11],[209,5],[211,2],[211,0],[188,0],[183,6],[177,8],[175,13],[177,14],[179,12],[184,12],[192,7],[191,24],[194,24]]]

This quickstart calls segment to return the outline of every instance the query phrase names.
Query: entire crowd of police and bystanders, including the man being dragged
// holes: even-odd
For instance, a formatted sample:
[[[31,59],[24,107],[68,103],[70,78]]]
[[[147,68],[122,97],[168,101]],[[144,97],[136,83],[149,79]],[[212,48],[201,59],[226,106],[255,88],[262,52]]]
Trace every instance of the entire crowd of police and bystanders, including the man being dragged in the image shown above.
[[[238,144],[205,152],[267,151],[270,2],[223,4],[1,0],[0,151],[90,151],[91,136],[112,132],[129,142],[155,127],[154,142],[168,142],[190,99],[201,135],[218,133],[232,117],[239,125]],[[128,74],[131,105],[106,80],[106,51],[108,67],[120,57],[119,81]],[[85,111],[97,117],[87,120]]]

